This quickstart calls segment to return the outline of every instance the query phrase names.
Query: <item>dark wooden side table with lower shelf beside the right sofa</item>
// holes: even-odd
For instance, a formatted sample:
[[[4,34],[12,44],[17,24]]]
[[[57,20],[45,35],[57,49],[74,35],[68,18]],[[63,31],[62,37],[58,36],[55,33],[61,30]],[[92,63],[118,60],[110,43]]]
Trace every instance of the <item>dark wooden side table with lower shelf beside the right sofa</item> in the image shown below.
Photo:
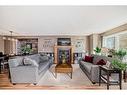
[[[105,74],[102,74],[102,71],[105,72]],[[113,79],[111,77],[111,74],[115,73],[119,75],[118,80]],[[99,86],[101,85],[101,81],[104,81],[104,83],[107,84],[107,89],[109,89],[110,85],[119,85],[120,89],[122,89],[122,71],[119,69],[109,69],[106,66],[100,66],[99,67]]]

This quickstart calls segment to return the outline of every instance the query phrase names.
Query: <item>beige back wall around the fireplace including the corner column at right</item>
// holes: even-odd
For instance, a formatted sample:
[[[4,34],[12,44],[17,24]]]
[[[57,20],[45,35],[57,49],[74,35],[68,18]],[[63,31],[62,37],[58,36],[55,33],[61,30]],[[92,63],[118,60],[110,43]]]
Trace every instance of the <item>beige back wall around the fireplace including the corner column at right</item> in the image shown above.
[[[80,52],[81,50],[93,53],[93,49],[96,46],[100,46],[100,35],[93,34],[90,36],[40,36],[38,38],[38,52],[53,52],[54,45],[57,44],[57,38],[71,38],[72,45],[74,46],[74,52]],[[77,48],[76,44],[81,41],[82,48]]]

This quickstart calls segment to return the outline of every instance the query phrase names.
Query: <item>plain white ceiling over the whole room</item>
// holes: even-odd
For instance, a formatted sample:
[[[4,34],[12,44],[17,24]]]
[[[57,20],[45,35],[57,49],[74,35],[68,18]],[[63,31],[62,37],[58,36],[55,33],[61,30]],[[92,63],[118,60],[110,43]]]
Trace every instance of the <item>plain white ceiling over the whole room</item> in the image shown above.
[[[127,6],[0,6],[2,35],[89,35],[127,23]]]

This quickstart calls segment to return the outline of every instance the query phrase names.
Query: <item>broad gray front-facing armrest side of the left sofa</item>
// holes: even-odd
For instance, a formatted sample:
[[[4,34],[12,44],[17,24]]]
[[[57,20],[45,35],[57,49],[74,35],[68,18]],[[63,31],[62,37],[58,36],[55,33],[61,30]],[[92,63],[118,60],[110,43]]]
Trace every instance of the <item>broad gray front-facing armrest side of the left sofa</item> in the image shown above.
[[[38,67],[17,66],[10,68],[12,83],[36,83],[38,80]]]

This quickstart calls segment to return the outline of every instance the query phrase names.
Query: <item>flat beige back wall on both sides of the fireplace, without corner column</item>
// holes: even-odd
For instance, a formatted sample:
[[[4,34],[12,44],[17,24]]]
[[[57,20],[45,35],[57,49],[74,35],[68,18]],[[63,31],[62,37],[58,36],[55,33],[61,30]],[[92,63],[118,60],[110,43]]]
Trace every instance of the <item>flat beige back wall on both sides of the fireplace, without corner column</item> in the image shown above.
[[[88,51],[88,39],[86,36],[43,36],[38,38],[38,52],[53,52],[54,45],[57,44],[57,38],[71,38],[72,45],[74,46],[74,52]],[[47,41],[49,40],[48,44]],[[82,42],[82,48],[76,48],[77,42]],[[47,44],[47,45],[45,45]]]

